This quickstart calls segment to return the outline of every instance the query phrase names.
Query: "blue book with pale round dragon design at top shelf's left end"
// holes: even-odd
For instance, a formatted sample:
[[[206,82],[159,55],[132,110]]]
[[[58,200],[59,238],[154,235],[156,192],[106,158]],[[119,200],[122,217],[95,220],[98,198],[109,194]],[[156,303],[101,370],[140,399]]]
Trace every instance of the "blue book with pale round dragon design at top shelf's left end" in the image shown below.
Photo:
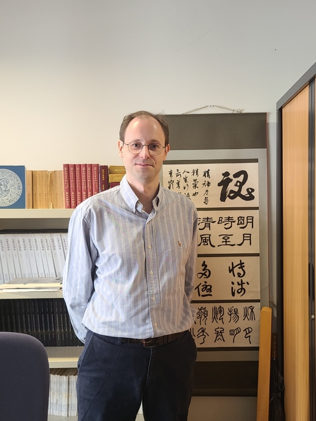
[[[0,209],[25,209],[24,165],[0,165]]]

